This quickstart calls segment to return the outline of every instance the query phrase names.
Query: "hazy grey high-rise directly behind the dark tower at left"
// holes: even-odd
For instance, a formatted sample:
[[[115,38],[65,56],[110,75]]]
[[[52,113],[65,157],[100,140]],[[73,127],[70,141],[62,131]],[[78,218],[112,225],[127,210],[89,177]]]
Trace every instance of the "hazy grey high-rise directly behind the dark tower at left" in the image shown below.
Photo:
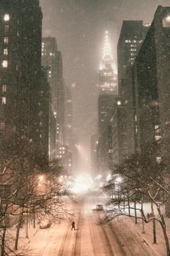
[[[61,158],[60,147],[65,145],[65,81],[63,61],[57,49],[56,38],[42,38],[41,64],[48,72],[51,94],[50,104],[56,118],[56,156]]]

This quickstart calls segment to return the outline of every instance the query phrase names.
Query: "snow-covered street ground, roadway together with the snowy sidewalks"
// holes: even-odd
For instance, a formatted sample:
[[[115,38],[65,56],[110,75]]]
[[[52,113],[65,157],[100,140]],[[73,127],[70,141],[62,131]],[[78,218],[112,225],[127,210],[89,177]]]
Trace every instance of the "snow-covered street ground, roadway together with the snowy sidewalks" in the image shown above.
[[[165,256],[166,248],[163,231],[156,223],[157,244],[153,244],[152,223],[145,224],[134,218],[118,217],[108,225],[97,225],[101,212],[92,212],[97,203],[104,203],[105,197],[99,191],[88,190],[78,195],[76,203],[69,202],[73,212],[67,221],[52,224],[49,229],[35,229],[29,226],[29,239],[25,238],[24,228],[20,232],[20,246],[25,245],[28,255],[134,255]],[[147,210],[147,209],[146,209]],[[71,222],[75,221],[75,231],[71,231]],[[170,221],[166,218],[168,235]],[[18,251],[19,252],[19,251]]]

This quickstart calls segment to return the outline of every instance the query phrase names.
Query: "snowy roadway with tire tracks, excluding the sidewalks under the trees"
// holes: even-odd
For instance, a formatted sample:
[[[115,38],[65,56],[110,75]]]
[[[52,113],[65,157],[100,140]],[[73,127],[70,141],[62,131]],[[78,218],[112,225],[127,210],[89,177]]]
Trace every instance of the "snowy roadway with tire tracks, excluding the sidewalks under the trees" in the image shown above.
[[[99,212],[92,212],[97,201],[97,192],[89,191],[81,195],[80,202],[73,205],[75,217],[48,229],[38,229],[31,246],[35,255],[155,255],[126,222],[116,219],[111,225],[96,225]],[[71,222],[75,221],[75,231]],[[163,254],[164,255],[164,254]]]

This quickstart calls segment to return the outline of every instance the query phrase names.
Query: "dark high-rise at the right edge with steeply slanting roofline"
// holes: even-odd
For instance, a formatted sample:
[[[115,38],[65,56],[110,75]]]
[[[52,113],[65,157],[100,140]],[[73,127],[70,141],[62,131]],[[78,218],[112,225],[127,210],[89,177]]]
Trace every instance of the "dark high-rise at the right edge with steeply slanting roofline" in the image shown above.
[[[137,150],[170,139],[170,8],[158,6],[154,20],[129,72]],[[159,157],[159,156],[158,156]]]

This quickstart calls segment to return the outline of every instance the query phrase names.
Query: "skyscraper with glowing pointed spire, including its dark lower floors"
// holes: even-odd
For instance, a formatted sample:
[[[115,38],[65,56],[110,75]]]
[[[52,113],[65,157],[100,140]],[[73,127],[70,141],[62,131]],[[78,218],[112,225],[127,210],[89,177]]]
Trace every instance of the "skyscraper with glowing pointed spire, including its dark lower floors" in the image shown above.
[[[97,169],[107,173],[112,165],[112,128],[110,118],[114,100],[118,96],[117,72],[108,32],[105,32],[103,57],[99,70]],[[93,150],[94,151],[94,150]]]

